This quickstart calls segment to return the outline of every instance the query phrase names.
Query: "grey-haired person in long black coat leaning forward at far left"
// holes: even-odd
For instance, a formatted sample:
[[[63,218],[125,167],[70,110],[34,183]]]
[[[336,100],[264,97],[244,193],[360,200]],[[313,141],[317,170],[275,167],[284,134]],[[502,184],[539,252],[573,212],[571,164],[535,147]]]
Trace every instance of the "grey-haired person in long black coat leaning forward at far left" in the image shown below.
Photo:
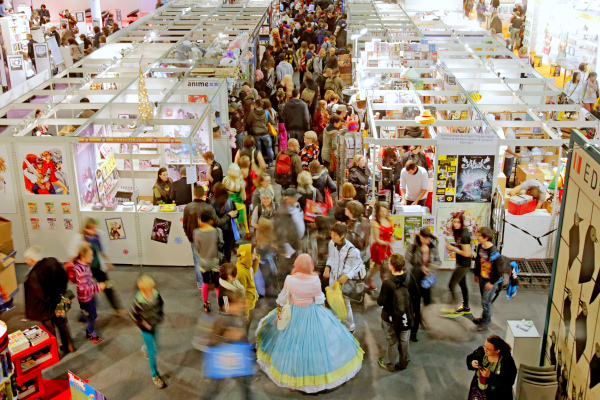
[[[75,351],[66,316],[64,318],[56,316],[56,306],[67,291],[67,272],[56,258],[43,258],[42,249],[37,246],[25,250],[24,258],[27,265],[31,267],[23,282],[25,317],[40,321],[42,326],[53,335],[58,328],[60,349],[64,353]]]

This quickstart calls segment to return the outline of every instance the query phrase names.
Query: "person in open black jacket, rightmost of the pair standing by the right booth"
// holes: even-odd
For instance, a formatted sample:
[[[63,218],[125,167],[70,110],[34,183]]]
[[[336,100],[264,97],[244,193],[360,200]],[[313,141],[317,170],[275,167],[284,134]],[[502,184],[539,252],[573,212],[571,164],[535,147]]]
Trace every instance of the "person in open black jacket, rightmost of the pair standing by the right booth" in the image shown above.
[[[498,285],[502,282],[502,267],[499,262],[500,253],[492,239],[494,231],[484,226],[477,232],[477,253],[475,255],[475,282],[479,282],[481,292],[481,318],[473,320],[478,330],[486,330],[492,322],[492,300]]]

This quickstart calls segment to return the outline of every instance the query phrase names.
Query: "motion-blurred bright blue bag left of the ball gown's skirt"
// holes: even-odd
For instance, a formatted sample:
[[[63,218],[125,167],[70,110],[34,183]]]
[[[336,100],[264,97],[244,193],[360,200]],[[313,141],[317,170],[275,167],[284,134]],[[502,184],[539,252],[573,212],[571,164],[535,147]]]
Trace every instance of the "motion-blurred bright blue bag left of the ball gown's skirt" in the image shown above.
[[[254,375],[254,363],[254,352],[250,343],[212,346],[204,356],[204,376],[226,379]]]

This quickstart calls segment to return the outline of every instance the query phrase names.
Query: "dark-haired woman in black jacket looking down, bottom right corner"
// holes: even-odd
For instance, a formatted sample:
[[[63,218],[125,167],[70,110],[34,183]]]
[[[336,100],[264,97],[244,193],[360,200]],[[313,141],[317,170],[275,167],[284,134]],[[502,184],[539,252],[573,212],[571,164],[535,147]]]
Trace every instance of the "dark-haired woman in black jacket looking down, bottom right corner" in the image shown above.
[[[485,344],[467,356],[467,368],[475,371],[469,398],[512,400],[512,386],[517,377],[515,360],[510,345],[497,335],[488,336]],[[483,396],[473,397],[477,394]]]

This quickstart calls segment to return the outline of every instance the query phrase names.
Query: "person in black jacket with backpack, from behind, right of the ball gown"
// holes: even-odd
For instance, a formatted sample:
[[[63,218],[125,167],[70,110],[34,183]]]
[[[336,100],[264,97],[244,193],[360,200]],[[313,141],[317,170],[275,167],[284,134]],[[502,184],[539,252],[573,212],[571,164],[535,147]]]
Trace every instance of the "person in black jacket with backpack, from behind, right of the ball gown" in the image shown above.
[[[381,285],[377,304],[381,309],[381,326],[387,340],[385,357],[379,366],[393,372],[408,367],[410,330],[415,322],[415,310],[421,305],[417,281],[404,273],[406,261],[400,254],[392,254],[389,268],[392,277]]]

